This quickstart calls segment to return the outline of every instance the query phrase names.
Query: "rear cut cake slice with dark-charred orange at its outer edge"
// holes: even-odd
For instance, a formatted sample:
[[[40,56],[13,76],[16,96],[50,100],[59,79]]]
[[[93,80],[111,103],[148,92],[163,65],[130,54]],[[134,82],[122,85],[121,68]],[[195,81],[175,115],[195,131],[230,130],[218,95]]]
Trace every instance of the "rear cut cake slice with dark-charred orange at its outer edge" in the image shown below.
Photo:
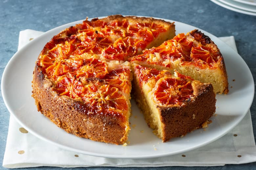
[[[224,58],[217,45],[199,30],[181,33],[158,47],[146,49],[130,59],[142,65],[155,65],[173,73],[191,76],[195,80],[211,83],[215,93],[228,93]]]

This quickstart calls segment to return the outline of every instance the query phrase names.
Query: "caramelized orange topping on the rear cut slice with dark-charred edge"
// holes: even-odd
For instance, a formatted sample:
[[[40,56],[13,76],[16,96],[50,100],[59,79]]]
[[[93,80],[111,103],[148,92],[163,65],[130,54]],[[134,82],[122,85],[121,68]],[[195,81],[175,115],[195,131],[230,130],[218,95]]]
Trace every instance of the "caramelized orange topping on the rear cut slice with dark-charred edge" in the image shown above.
[[[199,68],[214,68],[214,64],[221,59],[221,53],[217,48],[211,46],[210,43],[209,37],[198,30],[194,30],[187,35],[183,33],[178,34],[158,47],[146,49],[143,51],[143,54],[136,56],[132,60],[150,60],[149,62],[151,63],[163,65],[162,60],[150,59],[150,55],[158,53],[163,60],[181,59],[183,64],[193,64]]]

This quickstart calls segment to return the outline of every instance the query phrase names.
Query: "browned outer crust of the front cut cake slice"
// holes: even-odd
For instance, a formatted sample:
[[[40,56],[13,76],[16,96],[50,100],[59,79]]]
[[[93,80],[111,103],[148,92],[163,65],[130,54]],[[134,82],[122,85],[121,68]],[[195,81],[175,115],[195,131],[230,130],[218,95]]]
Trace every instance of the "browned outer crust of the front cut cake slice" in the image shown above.
[[[202,124],[215,113],[216,99],[212,85],[209,83],[194,84],[193,89],[196,95],[193,101],[185,101],[184,105],[176,107],[158,106],[163,125],[163,142],[202,127]]]

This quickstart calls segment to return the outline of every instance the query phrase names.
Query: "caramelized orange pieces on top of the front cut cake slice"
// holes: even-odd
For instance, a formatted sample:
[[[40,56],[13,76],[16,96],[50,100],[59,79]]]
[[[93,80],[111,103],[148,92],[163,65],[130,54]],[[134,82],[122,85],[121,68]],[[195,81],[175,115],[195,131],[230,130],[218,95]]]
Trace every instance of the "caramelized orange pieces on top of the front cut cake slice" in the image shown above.
[[[136,65],[135,73],[139,78],[139,85],[147,83],[154,79],[156,86],[153,88],[155,99],[163,105],[180,105],[183,101],[193,96],[193,88],[189,76],[184,76],[177,71],[176,76],[170,72],[159,71],[154,68],[148,68]]]

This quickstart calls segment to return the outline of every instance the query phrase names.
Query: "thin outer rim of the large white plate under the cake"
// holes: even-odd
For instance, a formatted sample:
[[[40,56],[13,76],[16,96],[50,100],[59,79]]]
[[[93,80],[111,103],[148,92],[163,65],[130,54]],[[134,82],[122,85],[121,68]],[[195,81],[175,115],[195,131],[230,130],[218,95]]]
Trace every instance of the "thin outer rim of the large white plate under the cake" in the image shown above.
[[[102,16],[102,17],[104,17],[104,16]],[[102,17],[98,17],[98,18],[102,18]],[[140,16],[139,16],[139,17],[140,17]],[[145,16],[145,17],[148,17],[148,16]],[[163,19],[163,18],[158,18],[158,17],[153,17],[153,18],[156,18],[156,19]],[[92,18],[90,18],[90,19],[92,19]],[[179,22],[179,21],[174,21],[174,20],[169,20],[169,19],[163,19],[163,20],[169,21],[169,22],[175,22],[175,23],[179,23],[179,24],[183,24],[183,25],[188,25],[188,24],[186,24],[186,23],[182,23],[182,22]],[[68,27],[67,25],[71,26],[71,25],[80,23],[80,22],[82,22],[82,21],[84,21],[84,20],[78,20],[78,21],[75,21],[75,22],[71,22],[71,23],[67,23],[67,24],[64,24],[64,25],[57,26],[57,27],[55,27],[55,28],[53,28],[53,29],[51,29],[51,30],[48,30],[48,31],[44,32],[42,35],[38,36],[38,37],[35,38],[34,40],[36,40],[36,39],[37,39],[37,40],[40,40],[41,37],[46,36],[46,35],[48,35],[49,33],[52,34],[52,32],[54,32],[55,30],[59,30],[59,29],[62,28],[62,27]],[[193,25],[189,25],[189,26],[195,27],[195,26],[193,26]],[[197,27],[196,27],[196,28],[197,28]],[[198,29],[200,29],[200,28],[198,28]],[[203,32],[206,32],[208,35],[214,36],[214,35],[208,33],[207,31],[204,31],[203,29],[200,29],[200,30],[203,31]],[[216,37],[216,36],[214,36],[214,37]],[[217,38],[217,37],[216,37],[216,38]],[[5,94],[6,92],[3,91],[3,89],[5,88],[5,87],[4,87],[4,86],[5,86],[5,79],[6,79],[5,76],[7,76],[7,69],[10,67],[9,65],[11,65],[11,63],[15,61],[15,59],[17,58],[16,56],[18,56],[18,54],[21,53],[22,50],[25,50],[25,49],[27,48],[27,46],[30,46],[31,43],[35,43],[34,40],[31,41],[31,42],[29,42],[29,43],[27,43],[26,45],[24,45],[21,49],[19,49],[19,50],[11,57],[11,59],[9,60],[9,62],[7,63],[7,65],[6,65],[5,69],[4,69],[4,72],[3,72],[3,75],[2,75],[2,80],[1,80],[2,97],[3,97],[4,103],[5,103],[6,107],[7,107],[7,109],[9,110],[9,112],[14,116],[14,118],[16,119],[16,121],[17,121],[20,125],[24,126],[25,128],[27,127],[26,124],[24,124],[23,122],[21,122],[21,121],[18,119],[18,117],[11,111],[12,109],[11,109],[11,108],[9,107],[9,105],[7,104],[7,101],[6,101],[7,99],[6,99],[6,96],[5,96],[5,95],[6,95],[6,94]],[[220,41],[221,41],[221,40],[220,40]],[[221,41],[221,42],[222,42],[222,41]],[[232,48],[230,48],[230,49],[233,50]],[[233,50],[233,51],[234,51],[234,50]],[[234,52],[235,52],[235,51],[234,51]],[[237,52],[235,52],[235,53],[237,53]],[[239,54],[237,53],[237,55],[239,55]],[[239,55],[239,57],[241,57],[241,56]],[[243,59],[242,57],[241,57],[241,59],[244,61],[244,59]],[[245,61],[244,61],[244,62],[245,62]],[[252,77],[252,74],[251,74],[250,69],[248,68],[248,65],[247,65],[246,63],[245,63],[245,65],[247,66],[247,69],[248,69],[249,72],[250,72],[250,76]],[[252,80],[253,80],[253,77],[252,77]],[[254,86],[253,86],[253,94],[254,94]],[[246,115],[246,113],[247,113],[248,110],[250,109],[250,106],[251,106],[251,104],[252,104],[252,101],[253,101],[253,97],[252,97],[252,99],[251,99],[251,101],[250,101],[249,108],[246,110],[246,112],[245,112],[243,115],[240,116],[240,120],[237,121],[236,125],[244,118],[244,116]],[[213,141],[215,141],[215,140],[221,138],[222,136],[224,136],[228,131],[230,131],[230,130],[231,130],[233,127],[235,127],[236,125],[234,125],[234,126],[232,126],[232,127],[229,127],[229,129],[226,130],[226,132],[223,133],[222,135],[220,135],[218,138],[209,140],[209,141],[207,141],[206,143],[200,144],[200,145],[197,146],[197,147],[193,147],[193,148],[190,148],[190,149],[183,149],[183,150],[179,150],[179,151],[172,152],[172,153],[169,153],[169,152],[168,152],[168,153],[160,153],[160,154],[147,155],[147,156],[125,156],[125,155],[116,156],[116,155],[111,155],[111,154],[110,154],[110,155],[109,155],[109,154],[106,155],[106,154],[97,154],[97,153],[95,154],[95,153],[91,153],[91,152],[81,152],[81,150],[79,150],[79,149],[75,149],[75,148],[72,148],[72,147],[69,147],[69,146],[65,146],[65,145],[58,144],[58,143],[56,143],[56,142],[54,142],[54,141],[51,141],[51,140],[45,138],[44,136],[41,136],[40,134],[34,133],[33,129],[30,129],[29,127],[27,127],[27,129],[28,129],[33,135],[35,135],[36,137],[38,137],[38,138],[40,138],[40,139],[43,139],[44,141],[47,141],[47,142],[49,142],[49,143],[58,145],[58,146],[60,146],[60,147],[62,147],[62,148],[64,148],[64,149],[71,150],[71,151],[75,151],[75,152],[78,152],[78,153],[83,153],[83,154],[92,155],[92,156],[105,157],[105,158],[120,158],[120,159],[127,159],[127,158],[129,159],[129,158],[133,158],[133,159],[141,159],[141,158],[156,158],[156,157],[161,157],[161,156],[175,155],[175,154],[182,153],[182,152],[185,152],[185,151],[194,150],[194,149],[196,149],[196,148],[202,147],[202,146],[204,146],[204,145],[206,145],[206,144],[209,144],[209,143],[211,143],[211,142],[213,142]],[[59,128],[59,127],[57,127],[57,128]]]

